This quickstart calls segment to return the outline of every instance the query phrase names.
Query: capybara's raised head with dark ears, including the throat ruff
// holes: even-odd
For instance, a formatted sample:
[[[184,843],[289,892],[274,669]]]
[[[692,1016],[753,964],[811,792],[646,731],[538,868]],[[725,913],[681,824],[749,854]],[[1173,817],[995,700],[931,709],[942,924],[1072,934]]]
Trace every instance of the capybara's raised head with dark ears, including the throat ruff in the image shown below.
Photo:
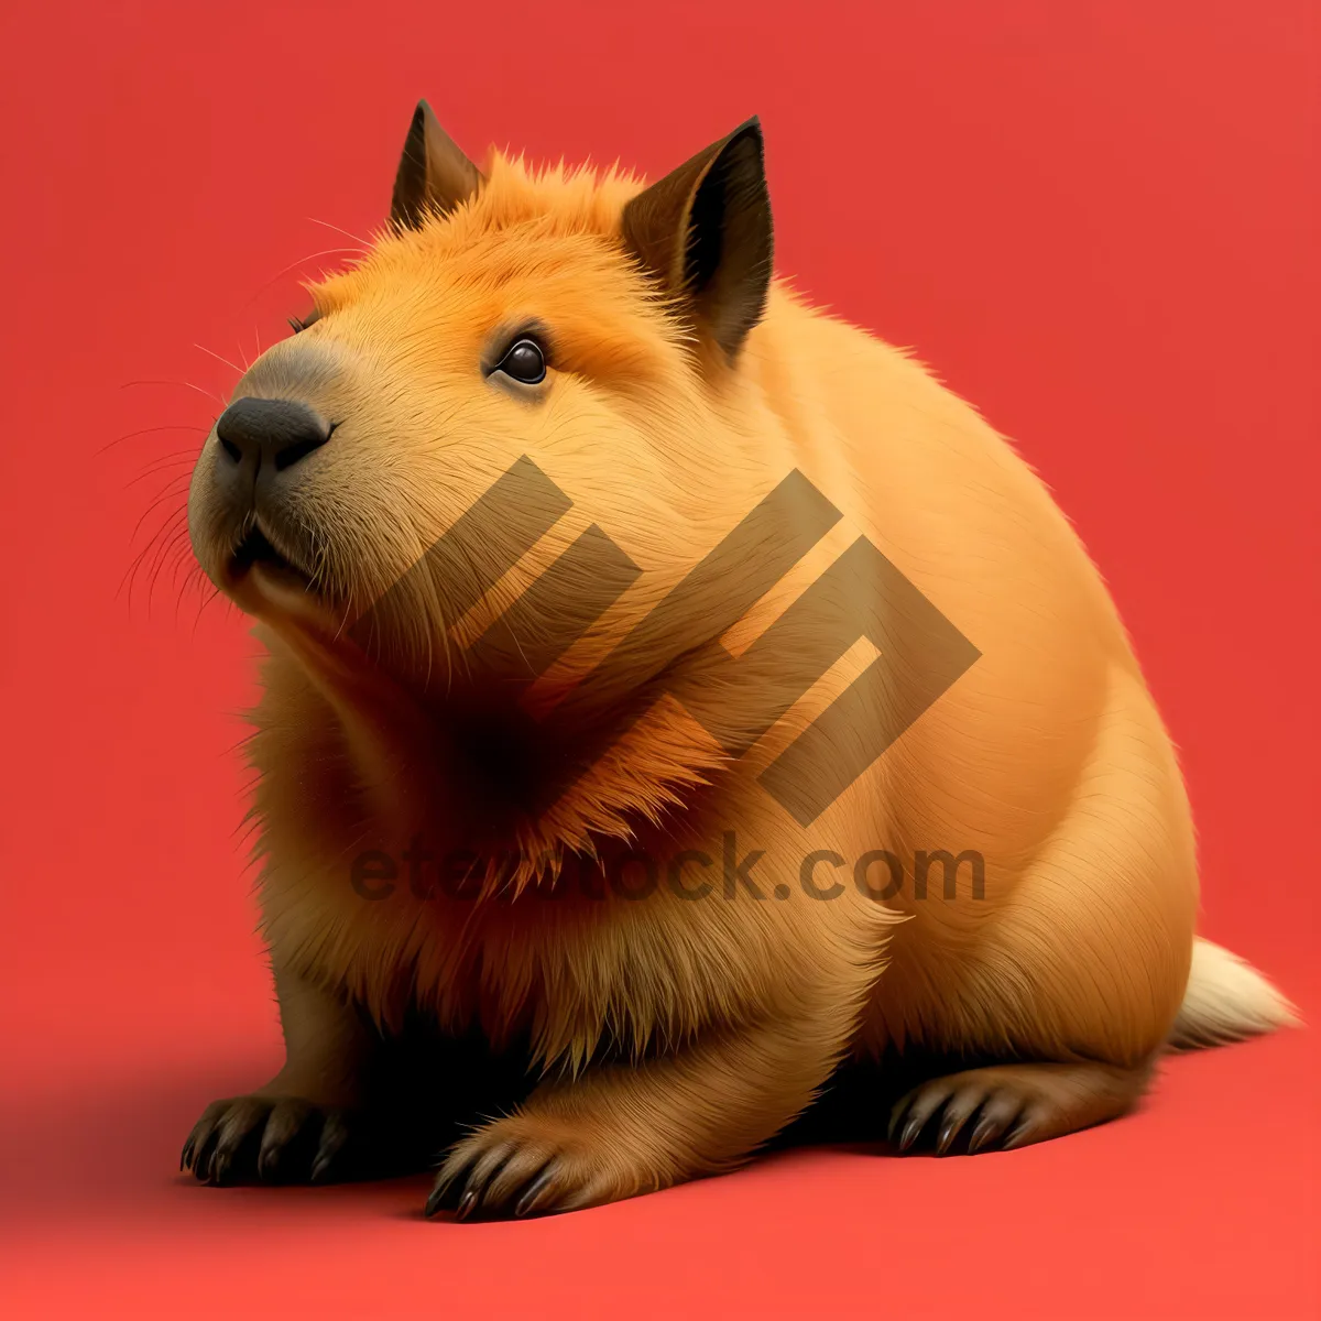
[[[655,694],[709,651],[731,601],[769,587],[774,555],[744,542],[682,609],[649,613],[793,466],[764,402],[770,279],[756,120],[643,188],[497,153],[480,170],[423,103],[388,225],[312,289],[202,448],[197,559],[365,741],[441,729],[462,757],[449,782],[526,818],[510,768],[536,777],[583,731],[625,728],[592,745],[608,765],[572,749],[592,775],[546,832],[654,811],[723,758],[672,712],[650,728]],[[795,518],[778,505],[757,535],[783,543]],[[587,704],[560,703],[571,690]],[[528,733],[539,700],[573,719]],[[399,764],[395,738],[378,765]]]

